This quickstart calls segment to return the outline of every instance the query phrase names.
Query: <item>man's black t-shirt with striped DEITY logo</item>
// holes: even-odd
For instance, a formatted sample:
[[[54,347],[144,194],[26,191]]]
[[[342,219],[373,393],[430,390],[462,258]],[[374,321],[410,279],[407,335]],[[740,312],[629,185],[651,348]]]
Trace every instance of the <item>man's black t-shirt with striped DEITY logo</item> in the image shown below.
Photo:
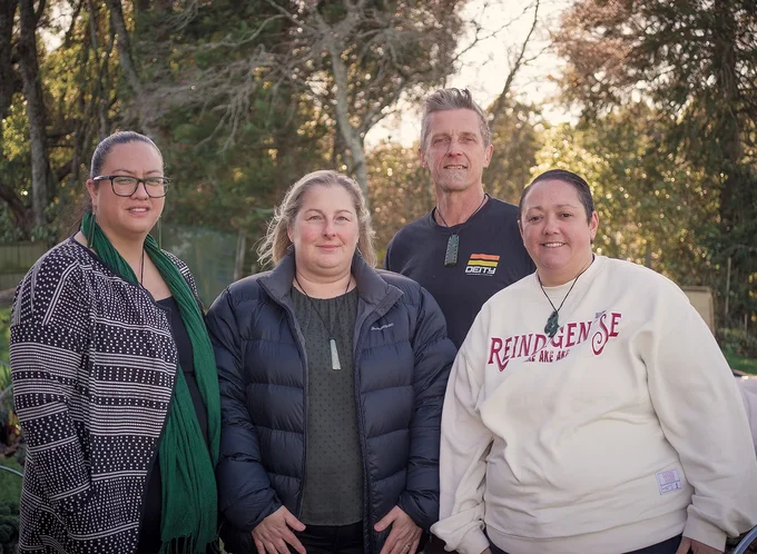
[[[445,267],[448,240],[461,228],[458,264]],[[433,211],[406,225],[390,241],[384,266],[431,293],[458,348],[483,304],[535,270],[518,229],[518,208],[495,198],[461,225],[441,226]]]

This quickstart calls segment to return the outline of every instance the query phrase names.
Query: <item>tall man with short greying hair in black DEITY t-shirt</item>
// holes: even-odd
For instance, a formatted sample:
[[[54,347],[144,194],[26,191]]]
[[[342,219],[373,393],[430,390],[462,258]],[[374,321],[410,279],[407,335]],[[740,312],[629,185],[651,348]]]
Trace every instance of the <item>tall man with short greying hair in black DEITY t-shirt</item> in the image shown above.
[[[419,155],[436,207],[397,231],[384,260],[432,294],[458,348],[481,306],[534,271],[518,208],[483,190],[492,150],[486,118],[468,90],[442,89],[426,99]]]

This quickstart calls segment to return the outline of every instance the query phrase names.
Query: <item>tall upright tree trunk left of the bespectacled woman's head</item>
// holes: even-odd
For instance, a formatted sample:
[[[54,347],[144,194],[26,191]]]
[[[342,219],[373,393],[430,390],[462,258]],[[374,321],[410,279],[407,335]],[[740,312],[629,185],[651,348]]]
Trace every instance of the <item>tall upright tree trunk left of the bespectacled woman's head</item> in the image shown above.
[[[37,59],[37,16],[33,0],[21,0],[19,65],[23,81],[23,96],[27,99],[29,118],[29,137],[31,146],[31,206],[35,226],[41,227],[47,221],[45,208],[49,198],[48,145],[45,128],[45,101],[39,81],[39,63]]]

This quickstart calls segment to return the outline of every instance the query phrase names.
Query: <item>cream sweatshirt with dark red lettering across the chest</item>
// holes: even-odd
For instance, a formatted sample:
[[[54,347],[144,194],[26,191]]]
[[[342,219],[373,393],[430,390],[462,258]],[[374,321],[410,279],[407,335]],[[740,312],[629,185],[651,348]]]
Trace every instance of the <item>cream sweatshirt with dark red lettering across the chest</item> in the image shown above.
[[[560,306],[572,281],[547,288]],[[597,256],[559,313],[535,274],[493,296],[450,375],[441,521],[450,550],[611,554],[757,523],[757,461],[711,333],[665,277]]]

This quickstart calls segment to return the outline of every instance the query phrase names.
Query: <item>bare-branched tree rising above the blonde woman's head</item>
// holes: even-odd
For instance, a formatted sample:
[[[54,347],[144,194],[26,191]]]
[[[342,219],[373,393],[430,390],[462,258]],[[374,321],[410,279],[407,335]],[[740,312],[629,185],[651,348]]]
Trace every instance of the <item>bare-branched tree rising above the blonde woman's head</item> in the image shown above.
[[[256,2],[256,17],[249,16],[244,29],[195,50],[213,61],[194,76],[187,73],[184,82],[193,93],[186,98],[210,96],[212,103],[225,106],[222,123],[232,140],[249,120],[260,89],[274,102],[281,102],[281,95],[307,99],[316,119],[336,129],[331,136],[332,166],[345,166],[367,190],[365,133],[403,93],[419,93],[419,87],[440,83],[452,71],[462,24],[456,9],[462,3]],[[201,7],[191,2],[188,11],[193,20]],[[224,82],[218,83],[213,76],[222,73]],[[157,93],[166,99],[166,92]],[[169,101],[177,100],[171,96]]]

